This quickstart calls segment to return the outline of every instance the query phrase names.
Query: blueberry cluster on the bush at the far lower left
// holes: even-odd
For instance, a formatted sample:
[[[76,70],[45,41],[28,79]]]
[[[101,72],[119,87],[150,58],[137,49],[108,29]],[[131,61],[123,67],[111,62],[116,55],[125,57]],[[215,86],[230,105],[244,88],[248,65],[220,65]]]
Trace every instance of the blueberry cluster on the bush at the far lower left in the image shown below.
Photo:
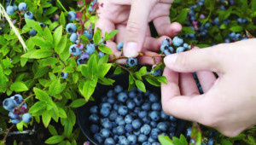
[[[19,124],[21,120],[25,123],[29,123],[32,119],[30,113],[27,113],[28,109],[26,103],[20,106],[23,101],[20,94],[11,96],[3,100],[3,108],[9,111],[9,118],[12,124]],[[20,107],[19,107],[20,106]]]

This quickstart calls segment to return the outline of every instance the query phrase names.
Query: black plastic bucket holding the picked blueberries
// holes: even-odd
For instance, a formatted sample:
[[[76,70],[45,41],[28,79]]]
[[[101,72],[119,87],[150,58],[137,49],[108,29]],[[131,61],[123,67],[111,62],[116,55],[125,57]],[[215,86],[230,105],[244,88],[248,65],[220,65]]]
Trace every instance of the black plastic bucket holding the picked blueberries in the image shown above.
[[[98,105],[101,102],[101,97],[106,96],[108,90],[113,90],[113,86],[120,84],[124,87],[124,90],[128,90],[129,84],[129,75],[128,74],[121,74],[121,75],[112,75],[108,78],[112,78],[115,80],[113,85],[102,85],[97,84],[96,90],[93,94],[95,102],[87,102],[83,107],[79,107],[77,118],[78,123],[81,131],[83,132],[84,136],[88,138],[90,142],[93,144],[98,144],[96,140],[93,138],[93,134],[90,132],[90,107],[94,105]],[[151,92],[155,92],[160,96],[160,87],[155,87],[151,84],[145,83],[146,89],[150,90]],[[179,136],[185,129],[187,122],[181,119],[177,121],[177,129],[175,136]]]

